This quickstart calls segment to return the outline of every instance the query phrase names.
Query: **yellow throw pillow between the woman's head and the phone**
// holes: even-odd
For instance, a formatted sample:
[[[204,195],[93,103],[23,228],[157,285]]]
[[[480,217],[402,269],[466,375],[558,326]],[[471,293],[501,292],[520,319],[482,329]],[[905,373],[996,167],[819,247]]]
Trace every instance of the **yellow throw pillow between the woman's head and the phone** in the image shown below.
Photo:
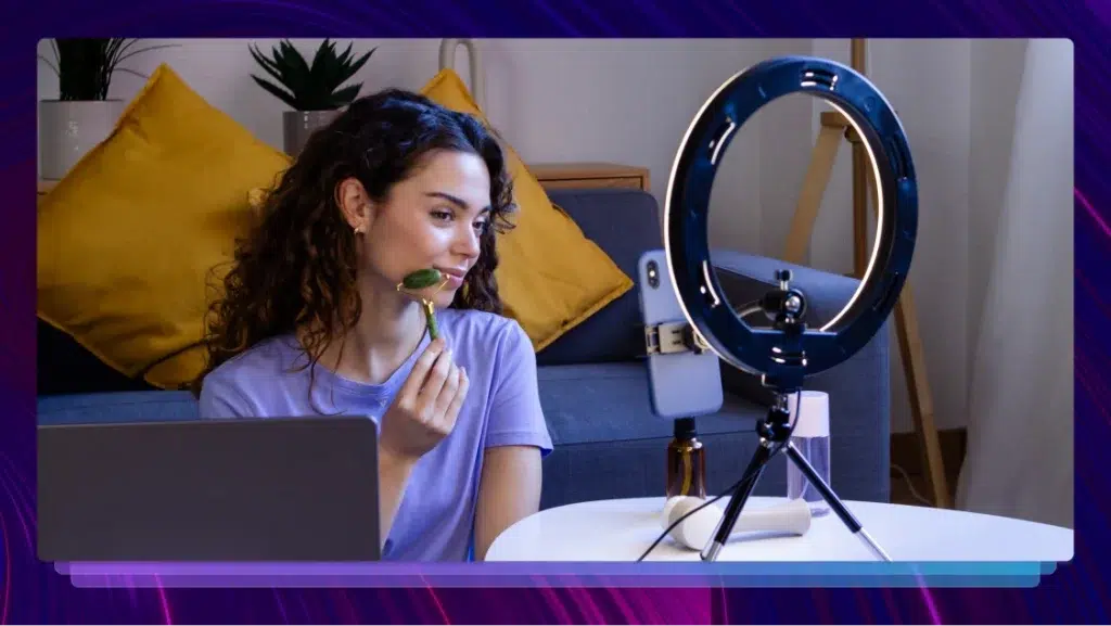
[[[421,93],[491,127],[454,71],[441,70]],[[494,278],[514,318],[542,350],[632,288],[632,280],[561,209],[553,206],[512,147],[507,151],[518,215],[498,240]]]

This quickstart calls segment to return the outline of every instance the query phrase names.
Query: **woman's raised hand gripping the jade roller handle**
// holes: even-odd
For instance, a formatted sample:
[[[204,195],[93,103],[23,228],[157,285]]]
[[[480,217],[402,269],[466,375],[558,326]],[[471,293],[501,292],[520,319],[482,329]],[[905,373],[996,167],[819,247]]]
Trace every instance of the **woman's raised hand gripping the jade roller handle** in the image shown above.
[[[431,341],[382,416],[381,451],[402,463],[428,454],[454,428],[469,387],[467,371],[452,362],[443,339]]]

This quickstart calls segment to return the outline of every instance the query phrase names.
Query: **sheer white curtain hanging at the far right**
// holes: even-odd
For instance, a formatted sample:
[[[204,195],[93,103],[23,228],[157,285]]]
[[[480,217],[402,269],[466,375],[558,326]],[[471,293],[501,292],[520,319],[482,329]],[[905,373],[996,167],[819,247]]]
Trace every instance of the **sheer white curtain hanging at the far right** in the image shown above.
[[[957,490],[959,508],[1067,527],[1073,525],[1072,77],[1070,41],[1029,42]]]

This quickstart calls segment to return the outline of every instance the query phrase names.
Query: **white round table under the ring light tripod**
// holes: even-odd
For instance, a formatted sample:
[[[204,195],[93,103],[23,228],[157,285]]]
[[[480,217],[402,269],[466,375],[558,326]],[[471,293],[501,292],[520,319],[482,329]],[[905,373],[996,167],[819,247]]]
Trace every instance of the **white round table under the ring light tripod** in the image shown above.
[[[753,496],[745,510],[784,498]],[[506,529],[487,560],[633,562],[663,531],[664,498],[598,500],[542,510]],[[715,503],[725,508],[728,497]],[[894,562],[1024,562],[1072,559],[1072,530],[1045,524],[951,509],[847,500],[864,530]],[[744,515],[743,513],[741,515]],[[671,537],[645,560],[699,560],[699,552]],[[875,560],[859,537],[830,511],[802,536],[740,535],[720,562]]]

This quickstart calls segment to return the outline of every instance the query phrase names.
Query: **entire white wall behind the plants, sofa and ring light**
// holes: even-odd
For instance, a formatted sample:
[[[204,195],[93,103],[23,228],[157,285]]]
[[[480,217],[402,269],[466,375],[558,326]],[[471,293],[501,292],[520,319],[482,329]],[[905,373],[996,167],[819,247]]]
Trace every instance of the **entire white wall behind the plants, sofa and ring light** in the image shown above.
[[[281,146],[283,105],[258,88],[249,40],[179,40],[132,59],[149,73],[170,63],[202,97],[261,139]],[[151,41],[150,43],[164,43]],[[273,40],[258,40],[269,50]],[[294,40],[304,53],[316,40]],[[902,117],[918,168],[921,220],[912,282],[940,427],[965,423],[970,338],[987,277],[970,266],[1002,203],[1021,42],[871,40],[868,73]],[[419,89],[438,69],[439,40],[357,40],[379,49],[357,77],[364,92]],[[608,160],[650,168],[663,201],[682,133],[704,99],[744,67],[775,54],[849,61],[848,40],[483,40],[487,112],[527,161]],[[1017,48],[1019,47],[1019,48]],[[40,44],[49,56],[49,43]],[[460,73],[467,78],[466,52]],[[57,79],[39,64],[39,96]],[[142,79],[118,73],[111,93],[131,98]],[[778,256],[817,137],[821,103],[788,97],[745,125],[713,189],[712,241]],[[815,225],[810,265],[851,270],[850,151],[839,156]],[[974,167],[973,167],[974,166]],[[970,290],[971,294],[970,295]],[[892,325],[893,326],[893,325]],[[892,340],[894,336],[892,334]],[[894,346],[894,345],[893,345]],[[897,354],[897,350],[893,350]],[[895,430],[910,430],[905,386],[892,361]]]

